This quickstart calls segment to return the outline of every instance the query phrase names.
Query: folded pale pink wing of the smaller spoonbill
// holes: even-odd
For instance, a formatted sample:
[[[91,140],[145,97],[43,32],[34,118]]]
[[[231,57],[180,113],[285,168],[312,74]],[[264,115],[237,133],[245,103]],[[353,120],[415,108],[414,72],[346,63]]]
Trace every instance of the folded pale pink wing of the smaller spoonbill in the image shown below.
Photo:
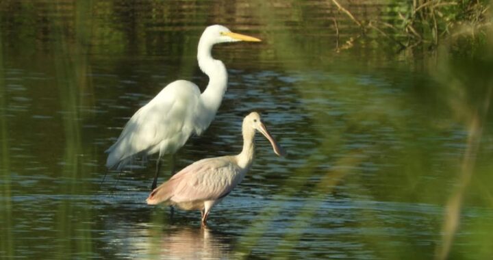
[[[152,204],[171,200],[174,203],[223,198],[242,179],[241,168],[232,157],[203,159],[184,168],[149,196]]]

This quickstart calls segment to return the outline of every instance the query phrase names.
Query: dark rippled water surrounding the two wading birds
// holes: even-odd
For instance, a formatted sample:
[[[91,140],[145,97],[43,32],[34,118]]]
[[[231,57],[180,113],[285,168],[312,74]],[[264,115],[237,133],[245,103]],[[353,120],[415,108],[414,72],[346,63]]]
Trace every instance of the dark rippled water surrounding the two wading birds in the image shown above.
[[[330,1],[3,1],[0,16],[1,258],[430,259],[455,194],[451,259],[493,254],[491,56],[371,35],[337,52],[333,18],[341,44],[358,31]],[[207,85],[196,49],[214,23],[264,41],[215,47],[229,88],[177,168],[238,153],[253,110],[289,155],[257,138],[202,229],[198,211],[145,204],[155,157],[108,172],[104,151],[167,83]]]

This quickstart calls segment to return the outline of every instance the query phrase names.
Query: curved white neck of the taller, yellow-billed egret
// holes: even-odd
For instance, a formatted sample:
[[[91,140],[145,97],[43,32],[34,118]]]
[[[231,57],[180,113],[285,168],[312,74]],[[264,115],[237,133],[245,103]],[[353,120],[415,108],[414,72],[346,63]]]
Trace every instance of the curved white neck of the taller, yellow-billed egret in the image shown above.
[[[212,57],[212,45],[212,42],[201,38],[197,51],[197,60],[199,60],[199,67],[203,73],[209,76],[209,84],[202,93],[201,99],[205,108],[214,112],[215,115],[226,92],[227,71],[223,62],[214,60]]]

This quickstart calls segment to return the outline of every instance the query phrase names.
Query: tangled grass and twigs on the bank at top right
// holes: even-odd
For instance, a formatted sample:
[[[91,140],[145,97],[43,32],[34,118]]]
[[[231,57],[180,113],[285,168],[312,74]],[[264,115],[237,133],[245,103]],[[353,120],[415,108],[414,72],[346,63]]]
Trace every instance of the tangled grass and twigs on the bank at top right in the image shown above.
[[[394,24],[377,19],[360,21],[339,0],[330,1],[361,29],[361,34],[341,46],[338,41],[337,51],[351,48],[357,38],[373,31],[399,45],[399,51],[420,45],[433,50],[440,42],[454,41],[462,36],[481,40],[492,25],[488,1],[413,0],[412,4],[396,8],[397,20],[400,21]],[[333,23],[339,39],[340,29],[336,17]]]

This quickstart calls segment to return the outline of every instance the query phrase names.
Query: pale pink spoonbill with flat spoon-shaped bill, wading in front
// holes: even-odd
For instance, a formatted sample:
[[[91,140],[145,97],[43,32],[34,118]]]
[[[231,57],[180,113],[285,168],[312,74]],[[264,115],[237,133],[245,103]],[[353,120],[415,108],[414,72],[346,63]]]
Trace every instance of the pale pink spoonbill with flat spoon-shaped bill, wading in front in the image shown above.
[[[227,196],[249,171],[255,152],[255,130],[270,141],[274,153],[284,156],[283,149],[267,131],[260,115],[252,112],[243,120],[243,150],[239,155],[201,159],[190,164],[153,190],[147,204],[165,203],[186,210],[199,209],[205,225],[212,207]]]

